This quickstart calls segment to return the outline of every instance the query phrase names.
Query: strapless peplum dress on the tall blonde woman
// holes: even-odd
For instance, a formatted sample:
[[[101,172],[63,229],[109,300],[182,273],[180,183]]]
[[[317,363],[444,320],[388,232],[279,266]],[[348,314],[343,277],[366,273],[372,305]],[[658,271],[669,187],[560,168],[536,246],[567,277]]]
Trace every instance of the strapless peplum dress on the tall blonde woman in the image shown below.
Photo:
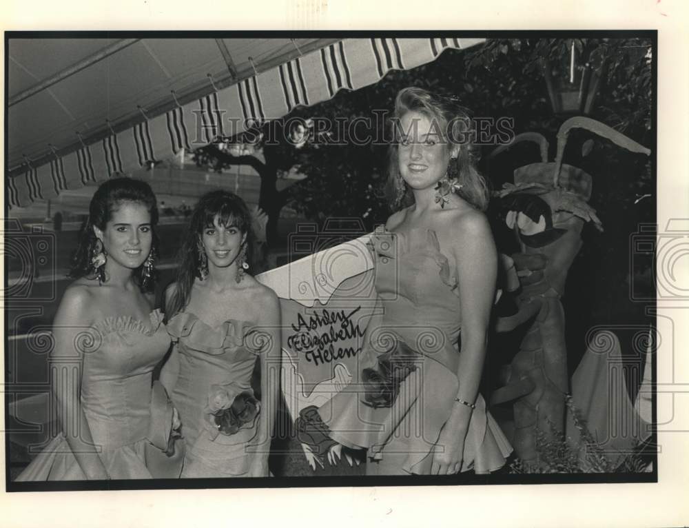
[[[371,242],[382,315],[364,336],[359,382],[318,414],[330,438],[368,449],[367,474],[430,474],[459,389],[457,278],[432,230],[378,231]],[[462,471],[488,473],[504,465],[512,448],[482,396],[475,405]]]

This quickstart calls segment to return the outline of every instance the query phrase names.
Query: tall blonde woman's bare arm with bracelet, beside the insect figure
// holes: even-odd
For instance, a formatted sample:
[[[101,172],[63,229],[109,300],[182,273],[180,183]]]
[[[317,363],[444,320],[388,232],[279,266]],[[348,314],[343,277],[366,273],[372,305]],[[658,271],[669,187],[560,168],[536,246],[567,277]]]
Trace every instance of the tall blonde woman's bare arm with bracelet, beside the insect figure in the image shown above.
[[[472,211],[465,214],[460,225],[455,225],[455,230],[460,233],[455,238],[454,254],[462,309],[459,389],[451,415],[440,433],[438,445],[444,449],[435,451],[434,474],[457,473],[462,467],[464,438],[473,412],[471,405],[478,396],[486,355],[497,276],[497,251],[486,217]]]

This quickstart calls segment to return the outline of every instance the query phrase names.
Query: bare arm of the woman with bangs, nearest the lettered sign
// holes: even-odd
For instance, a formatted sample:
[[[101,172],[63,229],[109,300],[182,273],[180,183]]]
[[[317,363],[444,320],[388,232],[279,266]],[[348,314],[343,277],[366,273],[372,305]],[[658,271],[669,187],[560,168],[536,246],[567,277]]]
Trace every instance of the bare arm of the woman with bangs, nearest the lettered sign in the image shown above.
[[[257,451],[249,476],[267,477],[269,476],[268,456],[278,409],[282,356],[280,301],[272,291],[266,295],[262,314],[259,331],[263,333],[262,338],[265,339],[266,345],[260,354],[261,410],[258,421],[258,444],[255,446]]]

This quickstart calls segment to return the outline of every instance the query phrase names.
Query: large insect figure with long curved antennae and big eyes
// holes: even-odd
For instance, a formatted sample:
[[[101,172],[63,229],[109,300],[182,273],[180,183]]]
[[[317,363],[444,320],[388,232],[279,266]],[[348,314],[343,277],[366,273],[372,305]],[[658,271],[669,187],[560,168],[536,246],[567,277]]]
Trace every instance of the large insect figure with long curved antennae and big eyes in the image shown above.
[[[586,117],[573,117],[562,124],[557,134],[554,162],[548,162],[548,142],[544,136],[533,132],[520,134],[513,143],[491,154],[500,154],[520,141],[535,141],[539,143],[542,157],[540,163],[517,168],[514,183],[505,183],[503,189],[495,193],[504,221],[520,245],[519,252],[503,255],[501,259],[510,283],[507,290],[515,292],[517,312],[497,318],[496,330],[510,332],[525,325],[526,334],[511,362],[506,385],[493,393],[491,403],[513,402],[513,446],[521,460],[535,466],[539,465],[537,432],[541,431],[546,437],[557,431],[574,436],[565,427],[568,423],[571,429],[573,424],[566,409],[567,395],[573,396],[575,404],[577,400],[584,401],[586,393],[590,394],[597,384],[597,378],[591,373],[595,372],[595,376],[608,374],[590,367],[604,363],[591,359],[588,351],[586,361],[577,369],[579,375],[575,374],[571,384],[567,372],[564,309],[560,298],[570,266],[582,247],[580,234],[584,223],[593,223],[602,231],[601,221],[588,205],[592,177],[562,162],[567,137],[573,128],[593,132],[630,152],[650,154],[650,150],[627,136]],[[590,148],[585,152],[590,152]],[[584,371],[588,376],[581,375]],[[619,406],[608,409],[608,405],[599,407],[619,416],[629,414],[631,409],[630,404],[624,409]],[[605,421],[599,416],[589,418],[592,424]]]

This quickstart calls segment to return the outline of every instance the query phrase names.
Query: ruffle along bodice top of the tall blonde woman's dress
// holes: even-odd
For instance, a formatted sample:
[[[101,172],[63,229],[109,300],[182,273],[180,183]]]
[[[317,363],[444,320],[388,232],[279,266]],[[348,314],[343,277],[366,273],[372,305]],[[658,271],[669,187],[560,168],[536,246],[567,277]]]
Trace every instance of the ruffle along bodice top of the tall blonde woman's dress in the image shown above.
[[[457,288],[457,277],[450,274],[449,260],[440,251],[440,242],[433,230],[417,228],[405,235],[377,229],[371,234],[369,247],[378,255],[378,258],[399,259],[406,254],[427,256],[438,265],[440,280],[451,290]]]

